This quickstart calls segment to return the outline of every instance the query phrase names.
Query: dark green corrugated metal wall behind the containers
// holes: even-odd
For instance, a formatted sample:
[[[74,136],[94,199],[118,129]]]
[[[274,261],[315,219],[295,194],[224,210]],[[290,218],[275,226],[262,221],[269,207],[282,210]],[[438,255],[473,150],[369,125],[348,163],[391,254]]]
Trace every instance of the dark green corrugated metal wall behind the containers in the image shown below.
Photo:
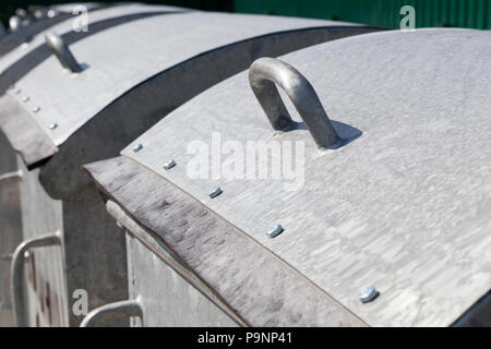
[[[417,27],[491,29],[491,0],[236,0],[235,11],[296,15],[398,27],[404,5],[416,10]]]

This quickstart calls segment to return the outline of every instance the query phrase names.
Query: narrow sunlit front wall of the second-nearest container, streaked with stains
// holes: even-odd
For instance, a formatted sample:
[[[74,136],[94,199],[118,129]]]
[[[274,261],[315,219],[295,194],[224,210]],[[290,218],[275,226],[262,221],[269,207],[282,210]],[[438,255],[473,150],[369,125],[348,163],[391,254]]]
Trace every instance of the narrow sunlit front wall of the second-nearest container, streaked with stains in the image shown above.
[[[63,232],[61,201],[50,198],[38,182],[39,170],[23,172],[21,207],[23,241],[55,231]],[[68,326],[69,309],[63,251],[60,246],[32,250],[25,261],[24,293],[29,326]]]

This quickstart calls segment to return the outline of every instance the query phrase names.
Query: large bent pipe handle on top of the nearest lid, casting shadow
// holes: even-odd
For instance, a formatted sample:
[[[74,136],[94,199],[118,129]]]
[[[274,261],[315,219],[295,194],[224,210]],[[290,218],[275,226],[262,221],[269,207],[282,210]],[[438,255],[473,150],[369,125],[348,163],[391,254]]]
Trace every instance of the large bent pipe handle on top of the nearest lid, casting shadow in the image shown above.
[[[277,84],[290,97],[320,148],[328,148],[339,140],[314,88],[290,64],[275,58],[260,58],[249,69],[249,82],[273,129],[285,131],[294,123]]]

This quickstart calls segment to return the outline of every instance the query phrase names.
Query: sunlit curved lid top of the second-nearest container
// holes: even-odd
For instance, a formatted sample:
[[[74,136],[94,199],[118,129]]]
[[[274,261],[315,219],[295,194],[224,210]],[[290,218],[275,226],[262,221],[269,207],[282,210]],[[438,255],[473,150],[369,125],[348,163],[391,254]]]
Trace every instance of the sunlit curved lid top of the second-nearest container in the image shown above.
[[[224,45],[287,29],[352,26],[340,22],[225,13],[159,15],[107,29],[71,46],[88,68],[67,74],[55,57],[32,70],[14,98],[26,109],[39,106],[34,119],[60,145],[98,111],[139,83],[187,59]],[[154,43],[153,45],[148,45]],[[117,62],[117,63],[115,63]],[[43,81],[43,88],[39,88]],[[56,130],[49,125],[58,123]]]

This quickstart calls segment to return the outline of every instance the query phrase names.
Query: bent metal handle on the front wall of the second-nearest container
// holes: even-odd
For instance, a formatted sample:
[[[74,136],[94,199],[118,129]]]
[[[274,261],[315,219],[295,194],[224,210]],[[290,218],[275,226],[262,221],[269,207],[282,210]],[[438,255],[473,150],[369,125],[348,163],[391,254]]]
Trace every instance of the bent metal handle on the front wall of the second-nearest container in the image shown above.
[[[14,321],[17,327],[28,326],[27,320],[25,318],[25,304],[23,294],[24,253],[31,249],[53,245],[61,245],[61,237],[59,231],[39,238],[26,240],[15,249],[11,264],[11,288]]]

